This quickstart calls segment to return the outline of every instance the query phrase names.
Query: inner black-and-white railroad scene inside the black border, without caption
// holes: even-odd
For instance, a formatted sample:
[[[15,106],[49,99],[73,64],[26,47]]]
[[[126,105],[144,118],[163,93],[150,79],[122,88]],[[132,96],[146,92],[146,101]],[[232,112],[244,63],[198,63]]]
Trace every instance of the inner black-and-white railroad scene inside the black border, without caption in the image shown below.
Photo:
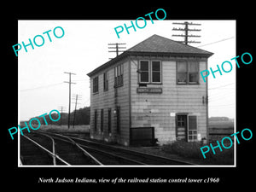
[[[236,20],[18,25],[20,166],[236,166]]]

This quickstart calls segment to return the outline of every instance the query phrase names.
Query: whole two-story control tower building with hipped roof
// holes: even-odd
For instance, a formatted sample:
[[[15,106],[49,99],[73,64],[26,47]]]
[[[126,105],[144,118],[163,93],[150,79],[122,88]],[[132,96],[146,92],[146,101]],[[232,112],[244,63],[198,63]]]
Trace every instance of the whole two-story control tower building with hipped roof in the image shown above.
[[[90,137],[130,145],[207,138],[212,53],[153,35],[97,67],[90,77]]]

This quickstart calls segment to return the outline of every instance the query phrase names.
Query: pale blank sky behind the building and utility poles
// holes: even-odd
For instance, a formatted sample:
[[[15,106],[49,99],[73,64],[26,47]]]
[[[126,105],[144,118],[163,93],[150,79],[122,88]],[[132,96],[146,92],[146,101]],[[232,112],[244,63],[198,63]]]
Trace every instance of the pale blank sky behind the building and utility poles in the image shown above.
[[[154,19],[154,18],[153,18]],[[18,52],[18,102],[20,120],[28,120],[34,116],[49,113],[53,109],[60,111],[61,106],[68,111],[69,75],[72,75],[72,96],[79,94],[81,99],[77,108],[90,106],[90,79],[86,75],[96,67],[109,61],[115,53],[108,52],[108,44],[125,43],[126,49],[142,42],[144,39],[157,34],[173,40],[183,40],[172,37],[172,34],[182,32],[172,31],[172,22],[189,21],[200,23],[201,32],[191,32],[201,35],[201,38],[189,40],[201,41],[201,44],[189,44],[214,53],[208,59],[208,68],[217,69],[224,61],[230,61],[233,69],[230,73],[215,73],[216,79],[209,76],[209,117],[236,116],[236,64],[230,59],[236,56],[236,20],[147,20],[143,29],[137,28],[130,34],[114,32],[114,27],[129,26],[131,20],[19,20],[18,43],[29,44],[29,38],[37,35],[44,37],[44,45],[34,49],[29,45],[27,52],[22,47]],[[133,22],[135,22],[133,20]],[[139,24],[140,25],[140,24]],[[62,38],[55,38],[53,30],[61,26],[64,30]],[[141,24],[140,26],[143,26]],[[49,31],[49,36],[43,32]],[[56,36],[61,36],[61,30],[55,30]],[[42,44],[41,38],[36,38],[37,44]],[[14,52],[15,55],[15,52]],[[229,67],[226,67],[228,70]],[[72,102],[75,102],[74,100]],[[71,111],[74,110],[72,103]]]

